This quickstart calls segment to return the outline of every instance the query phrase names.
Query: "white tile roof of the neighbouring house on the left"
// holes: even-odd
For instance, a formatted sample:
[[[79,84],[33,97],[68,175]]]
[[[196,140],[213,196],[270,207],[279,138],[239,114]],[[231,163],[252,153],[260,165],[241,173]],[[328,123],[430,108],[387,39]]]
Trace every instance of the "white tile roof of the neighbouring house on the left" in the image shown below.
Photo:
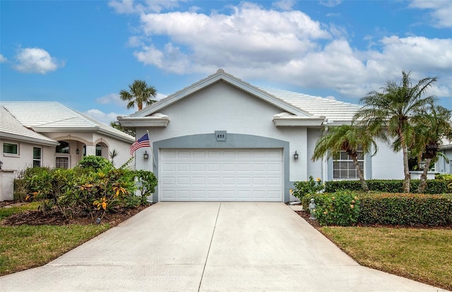
[[[1,102],[23,126],[37,132],[54,130],[100,131],[113,138],[133,142],[135,138],[59,102]]]

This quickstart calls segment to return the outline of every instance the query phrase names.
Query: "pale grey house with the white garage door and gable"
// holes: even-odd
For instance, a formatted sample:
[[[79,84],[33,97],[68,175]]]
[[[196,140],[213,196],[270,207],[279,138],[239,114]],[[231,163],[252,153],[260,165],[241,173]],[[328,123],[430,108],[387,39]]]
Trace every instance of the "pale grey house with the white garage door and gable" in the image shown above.
[[[121,126],[150,133],[136,169],[154,171],[153,201],[288,202],[295,181],[356,179],[353,162],[311,161],[323,126],[350,123],[356,104],[261,89],[225,73],[190,85],[130,116]],[[297,155],[295,155],[297,154]],[[297,157],[297,158],[295,158]],[[379,144],[362,157],[366,179],[403,178],[401,153]]]

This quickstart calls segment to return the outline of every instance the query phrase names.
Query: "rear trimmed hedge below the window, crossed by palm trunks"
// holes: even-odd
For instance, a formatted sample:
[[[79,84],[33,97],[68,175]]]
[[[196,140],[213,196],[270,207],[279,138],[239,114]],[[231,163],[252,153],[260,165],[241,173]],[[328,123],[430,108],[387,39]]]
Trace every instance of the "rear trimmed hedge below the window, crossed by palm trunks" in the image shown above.
[[[382,179],[369,179],[366,181],[369,190],[374,190],[383,193],[403,193],[403,180],[382,180]],[[425,188],[426,194],[444,194],[448,193],[448,181],[439,179],[427,180],[427,188]],[[417,187],[420,184],[420,180],[410,180],[410,191],[415,193]],[[326,181],[325,192],[334,193],[339,190],[357,190],[362,191],[362,185],[360,181]]]

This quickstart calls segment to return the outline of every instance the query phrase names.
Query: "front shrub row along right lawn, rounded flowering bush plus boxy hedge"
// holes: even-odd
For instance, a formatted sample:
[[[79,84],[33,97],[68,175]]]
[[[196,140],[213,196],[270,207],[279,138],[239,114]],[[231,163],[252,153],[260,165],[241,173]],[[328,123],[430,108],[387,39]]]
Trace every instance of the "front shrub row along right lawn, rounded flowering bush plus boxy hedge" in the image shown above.
[[[316,193],[302,198],[304,209],[316,202],[321,225],[452,225],[452,195],[403,193]]]

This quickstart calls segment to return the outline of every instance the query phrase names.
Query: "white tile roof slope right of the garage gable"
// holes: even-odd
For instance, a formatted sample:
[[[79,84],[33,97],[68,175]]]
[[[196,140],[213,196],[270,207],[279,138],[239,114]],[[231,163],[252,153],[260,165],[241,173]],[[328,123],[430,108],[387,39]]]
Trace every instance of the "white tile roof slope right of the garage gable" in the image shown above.
[[[328,122],[352,121],[353,116],[361,108],[358,104],[339,102],[335,99],[304,95],[298,92],[260,87],[261,90],[283,101],[307,111],[313,116],[325,116]]]

